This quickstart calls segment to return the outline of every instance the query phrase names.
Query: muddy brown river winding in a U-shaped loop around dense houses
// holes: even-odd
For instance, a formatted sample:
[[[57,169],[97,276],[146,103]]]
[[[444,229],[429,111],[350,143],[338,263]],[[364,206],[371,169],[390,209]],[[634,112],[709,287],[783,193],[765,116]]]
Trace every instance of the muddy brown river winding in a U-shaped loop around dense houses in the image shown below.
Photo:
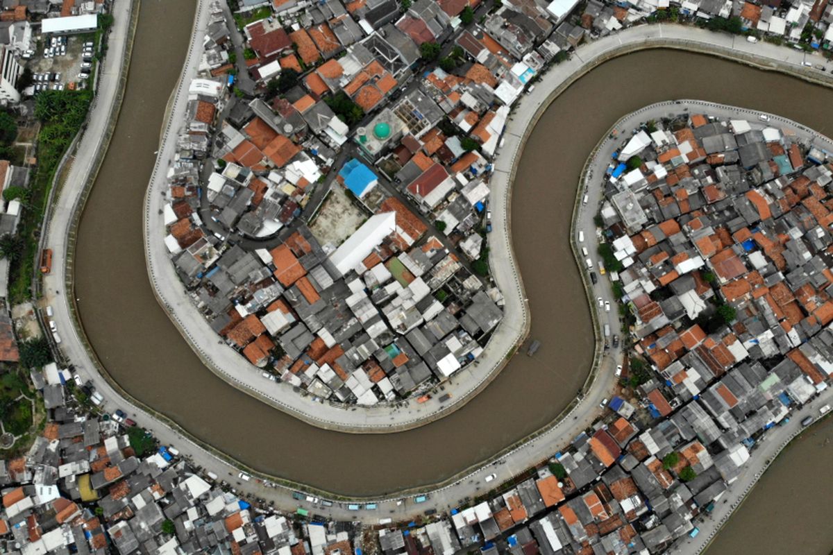
[[[665,50],[596,68],[546,111],[513,190],[512,234],[531,334],[542,341],[537,359],[516,356],[476,399],[434,424],[386,435],[327,432],[216,378],[157,305],[147,280],[142,199],[193,7],[193,0],[142,2],[121,116],[79,230],[82,322],[110,374],[137,399],[252,468],[338,493],[374,495],[441,481],[547,424],[574,397],[591,363],[592,332],[567,230],[581,166],[618,117],[687,97],[833,129],[833,92],[775,73]]]

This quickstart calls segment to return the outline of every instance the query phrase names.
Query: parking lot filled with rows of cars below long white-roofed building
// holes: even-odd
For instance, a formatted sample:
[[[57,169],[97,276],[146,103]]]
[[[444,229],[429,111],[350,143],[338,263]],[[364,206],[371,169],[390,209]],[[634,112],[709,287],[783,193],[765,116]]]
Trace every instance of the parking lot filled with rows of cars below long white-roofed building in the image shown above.
[[[38,37],[37,48],[27,52],[32,93],[85,87],[92,69],[92,48],[91,34]]]

